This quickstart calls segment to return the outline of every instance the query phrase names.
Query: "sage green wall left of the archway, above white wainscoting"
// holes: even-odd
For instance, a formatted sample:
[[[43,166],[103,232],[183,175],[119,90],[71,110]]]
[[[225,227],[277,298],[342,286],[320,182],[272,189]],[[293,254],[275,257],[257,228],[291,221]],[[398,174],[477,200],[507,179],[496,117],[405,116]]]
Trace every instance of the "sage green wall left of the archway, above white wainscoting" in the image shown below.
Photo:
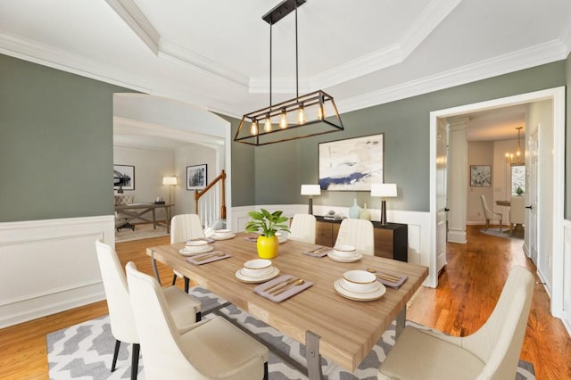
[[[0,222],[113,214],[112,95],[0,54]]]

